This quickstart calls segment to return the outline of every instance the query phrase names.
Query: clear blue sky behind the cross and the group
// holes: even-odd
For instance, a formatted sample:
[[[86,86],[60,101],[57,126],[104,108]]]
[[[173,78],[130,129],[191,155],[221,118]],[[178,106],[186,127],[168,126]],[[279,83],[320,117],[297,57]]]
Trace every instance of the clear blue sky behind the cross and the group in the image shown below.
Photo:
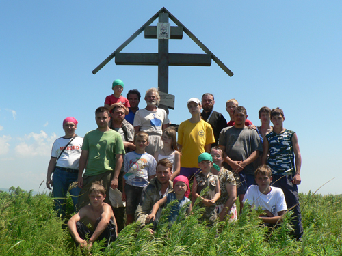
[[[187,100],[207,92],[226,119],[230,98],[257,125],[261,106],[279,106],[285,128],[298,134],[300,192],[335,178],[319,193],[341,194],[341,1],[1,1],[0,188],[42,191],[62,120],[75,117],[82,137],[96,128],[94,110],[114,79],[124,81],[124,95],[157,87],[157,66],[113,59],[92,70],[163,6],[235,73],[215,62],[170,67],[172,123],[188,119]],[[169,51],[203,53],[185,33]],[[157,40],[142,33],[122,52],[155,53]]]

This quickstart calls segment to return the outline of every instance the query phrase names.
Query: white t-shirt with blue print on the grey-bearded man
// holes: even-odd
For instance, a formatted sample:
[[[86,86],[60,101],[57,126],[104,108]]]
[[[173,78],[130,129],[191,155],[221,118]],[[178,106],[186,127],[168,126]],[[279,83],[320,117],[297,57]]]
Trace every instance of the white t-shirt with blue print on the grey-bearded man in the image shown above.
[[[148,134],[163,134],[163,124],[170,124],[168,114],[163,109],[157,111],[148,111],[139,109],[135,113],[133,126],[140,126],[140,130]]]

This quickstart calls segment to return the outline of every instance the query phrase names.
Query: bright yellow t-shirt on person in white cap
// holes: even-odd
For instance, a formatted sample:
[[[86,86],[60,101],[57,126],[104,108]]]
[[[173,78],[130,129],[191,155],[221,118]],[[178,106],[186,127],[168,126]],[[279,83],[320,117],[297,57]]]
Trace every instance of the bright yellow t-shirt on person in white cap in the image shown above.
[[[198,167],[198,156],[205,152],[205,145],[214,142],[213,129],[207,122],[181,122],[178,128],[178,143],[182,145],[181,167]]]

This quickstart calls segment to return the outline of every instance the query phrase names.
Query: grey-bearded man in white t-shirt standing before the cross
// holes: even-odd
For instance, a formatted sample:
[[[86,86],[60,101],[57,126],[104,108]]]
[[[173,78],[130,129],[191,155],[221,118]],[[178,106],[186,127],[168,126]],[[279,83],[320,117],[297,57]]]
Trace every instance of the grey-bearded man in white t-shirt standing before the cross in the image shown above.
[[[146,153],[154,155],[163,148],[161,135],[163,130],[170,126],[170,120],[165,110],[157,108],[160,101],[157,88],[148,89],[145,100],[147,106],[135,113],[133,126],[135,132],[142,130],[148,133],[149,145],[146,147]]]

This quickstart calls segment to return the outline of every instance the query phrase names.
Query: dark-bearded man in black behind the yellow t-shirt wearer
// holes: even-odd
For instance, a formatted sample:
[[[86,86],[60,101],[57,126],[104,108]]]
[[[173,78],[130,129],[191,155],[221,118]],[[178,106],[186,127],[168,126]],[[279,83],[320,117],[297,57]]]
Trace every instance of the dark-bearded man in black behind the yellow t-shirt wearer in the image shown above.
[[[220,132],[223,128],[227,127],[227,121],[224,118],[224,116],[221,113],[218,113],[213,110],[214,104],[215,100],[213,94],[207,93],[202,95],[203,111],[202,113],[200,113],[200,116],[203,120],[205,120],[211,125],[215,137],[215,143],[211,144],[211,147],[215,147],[218,145]]]

